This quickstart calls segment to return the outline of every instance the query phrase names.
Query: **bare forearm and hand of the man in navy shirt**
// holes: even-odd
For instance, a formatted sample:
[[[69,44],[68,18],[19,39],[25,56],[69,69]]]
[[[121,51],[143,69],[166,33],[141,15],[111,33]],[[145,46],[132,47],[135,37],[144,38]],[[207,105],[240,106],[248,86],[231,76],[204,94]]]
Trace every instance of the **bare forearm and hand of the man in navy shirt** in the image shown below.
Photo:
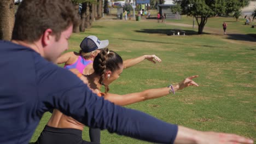
[[[235,134],[216,133],[213,131],[197,131],[190,128],[178,126],[175,144],[197,143],[197,144],[224,144],[224,143],[253,143],[253,140]]]

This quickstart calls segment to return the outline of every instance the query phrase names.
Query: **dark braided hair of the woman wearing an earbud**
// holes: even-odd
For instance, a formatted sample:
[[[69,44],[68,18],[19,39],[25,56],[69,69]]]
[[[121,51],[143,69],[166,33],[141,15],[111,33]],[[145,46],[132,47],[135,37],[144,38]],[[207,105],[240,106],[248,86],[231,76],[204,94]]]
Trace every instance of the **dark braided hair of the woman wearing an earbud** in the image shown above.
[[[100,75],[100,83],[104,85],[104,74],[106,70],[112,71],[120,69],[119,64],[123,64],[123,59],[114,51],[108,51],[108,49],[101,49],[101,52],[94,59],[94,72],[97,75]],[[109,91],[107,85],[104,85],[105,93]]]

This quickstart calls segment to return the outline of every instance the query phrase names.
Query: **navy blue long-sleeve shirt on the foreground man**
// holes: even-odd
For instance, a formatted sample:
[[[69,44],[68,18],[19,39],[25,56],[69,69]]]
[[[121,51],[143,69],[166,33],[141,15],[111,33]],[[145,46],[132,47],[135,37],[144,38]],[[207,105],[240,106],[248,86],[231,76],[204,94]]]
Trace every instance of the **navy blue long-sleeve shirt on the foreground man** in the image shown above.
[[[176,138],[177,125],[97,97],[77,76],[28,47],[0,41],[0,69],[0,143],[28,143],[50,109],[140,140],[173,143]]]

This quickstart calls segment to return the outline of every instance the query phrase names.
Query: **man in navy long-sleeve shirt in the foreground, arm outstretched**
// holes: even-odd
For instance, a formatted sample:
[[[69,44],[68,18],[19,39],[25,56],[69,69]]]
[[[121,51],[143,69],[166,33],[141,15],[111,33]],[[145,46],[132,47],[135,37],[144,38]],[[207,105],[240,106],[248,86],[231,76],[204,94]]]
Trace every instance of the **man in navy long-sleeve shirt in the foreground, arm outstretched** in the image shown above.
[[[68,49],[76,15],[69,0],[20,3],[11,41],[0,40],[0,143],[27,144],[44,112],[52,109],[88,127],[149,142],[253,143],[166,123],[98,97],[71,71],[54,64]]]

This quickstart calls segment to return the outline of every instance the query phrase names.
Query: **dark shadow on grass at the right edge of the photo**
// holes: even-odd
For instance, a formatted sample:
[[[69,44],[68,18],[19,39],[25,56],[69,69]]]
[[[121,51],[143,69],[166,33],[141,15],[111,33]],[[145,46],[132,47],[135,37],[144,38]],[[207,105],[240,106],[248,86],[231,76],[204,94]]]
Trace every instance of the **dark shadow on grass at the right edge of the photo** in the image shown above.
[[[228,34],[228,39],[256,42],[256,34]]]

